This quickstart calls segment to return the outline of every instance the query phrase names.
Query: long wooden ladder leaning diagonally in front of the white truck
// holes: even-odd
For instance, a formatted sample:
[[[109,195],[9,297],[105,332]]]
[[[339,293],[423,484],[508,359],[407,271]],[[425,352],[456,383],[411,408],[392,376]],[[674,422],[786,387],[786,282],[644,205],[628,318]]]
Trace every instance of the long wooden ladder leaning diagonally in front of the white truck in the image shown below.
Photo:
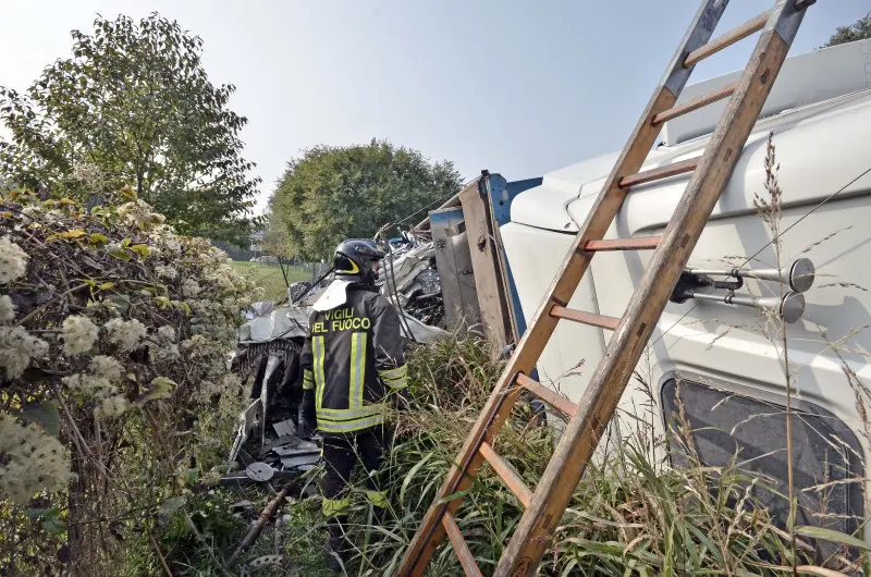
[[[465,574],[482,575],[454,520],[454,514],[461,502],[457,493],[462,494],[468,489],[484,461],[526,508],[493,575],[519,577],[533,574],[704,223],[732,174],[798,32],[805,9],[813,2],[780,0],[773,9],[713,40],[711,35],[728,0],[702,2],[664,78],[653,93],[596,205],[575,237],[560,272],[406,550],[397,575],[422,575],[445,533]],[[759,30],[762,34],[737,82],[685,103],[676,103],[696,63]],[[639,172],[665,121],[724,98],[731,99],[701,157]],[[687,172],[692,172],[692,175],[664,234],[646,238],[603,240],[631,186]],[[654,249],[654,253],[622,318],[567,308],[597,251],[639,249]],[[577,406],[527,377],[560,319],[614,331]],[[569,417],[535,491],[526,487],[512,467],[493,451],[493,439],[523,390],[539,396]]]

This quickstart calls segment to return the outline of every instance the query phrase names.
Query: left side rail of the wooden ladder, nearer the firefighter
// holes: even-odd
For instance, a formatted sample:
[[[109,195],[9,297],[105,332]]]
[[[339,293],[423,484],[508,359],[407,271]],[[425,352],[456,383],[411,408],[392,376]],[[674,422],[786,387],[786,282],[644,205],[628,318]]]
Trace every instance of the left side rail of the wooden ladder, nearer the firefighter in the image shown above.
[[[677,48],[659,87],[651,95],[629,140],[617,158],[596,204],[591,207],[580,229],[582,232],[572,243],[556,277],[538,310],[528,322],[516,351],[505,364],[499,382],[459,450],[455,461],[458,465],[452,466],[449,470],[430,508],[424,515],[420,527],[405,550],[396,572],[398,577],[424,575],[427,563],[444,538],[441,516],[445,512],[456,511],[459,506],[457,499],[447,503],[442,503],[442,501],[447,495],[468,489],[471,484],[483,461],[478,451],[481,438],[483,435],[492,438],[499,432],[511,412],[511,405],[516,400],[517,392],[522,390],[517,386],[512,388],[515,376],[518,372],[526,375],[531,372],[556,328],[559,319],[550,315],[551,308],[554,304],[565,305],[568,303],[589,266],[590,258],[594,253],[585,251],[582,247],[587,246],[590,241],[601,241],[604,237],[626,195],[626,191],[619,187],[621,177],[640,170],[660,132],[652,123],[653,116],[672,108],[677,100],[677,95],[686,84],[688,74],[683,67],[683,56],[710,39],[726,4],[727,2],[722,0],[706,0],[696,13],[689,30]],[[511,403],[504,400],[508,400]]]

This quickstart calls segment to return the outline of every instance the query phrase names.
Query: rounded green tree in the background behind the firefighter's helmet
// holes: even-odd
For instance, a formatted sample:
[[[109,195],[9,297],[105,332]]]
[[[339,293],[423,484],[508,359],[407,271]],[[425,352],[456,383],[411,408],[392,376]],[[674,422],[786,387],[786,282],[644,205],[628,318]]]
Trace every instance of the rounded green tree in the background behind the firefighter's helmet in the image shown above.
[[[456,194],[459,186],[453,162],[430,163],[417,150],[387,140],[321,145],[287,163],[270,209],[284,224],[286,254],[320,260],[343,238],[371,237],[382,225]]]

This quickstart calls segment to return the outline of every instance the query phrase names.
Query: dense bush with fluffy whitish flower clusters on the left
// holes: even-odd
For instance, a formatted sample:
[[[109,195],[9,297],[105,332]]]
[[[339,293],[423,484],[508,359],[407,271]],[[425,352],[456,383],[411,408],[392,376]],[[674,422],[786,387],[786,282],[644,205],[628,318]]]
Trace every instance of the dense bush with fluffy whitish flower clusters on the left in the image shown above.
[[[243,398],[224,357],[249,281],[133,191],[113,200],[0,197],[3,575],[157,573],[154,536],[217,472]]]

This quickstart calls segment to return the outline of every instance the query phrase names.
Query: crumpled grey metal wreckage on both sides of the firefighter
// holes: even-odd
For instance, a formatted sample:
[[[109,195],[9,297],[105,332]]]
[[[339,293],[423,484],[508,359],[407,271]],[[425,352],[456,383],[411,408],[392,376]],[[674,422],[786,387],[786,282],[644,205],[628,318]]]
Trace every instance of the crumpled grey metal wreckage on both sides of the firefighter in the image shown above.
[[[391,246],[378,290],[401,312],[406,339],[432,342],[446,334],[438,326],[444,304],[433,245],[406,237],[393,240]],[[243,382],[250,383],[252,402],[240,415],[229,455],[242,470],[228,470],[223,483],[254,482],[269,488],[272,480],[281,484],[287,477],[310,470],[320,459],[319,440],[297,435],[299,355],[311,305],[331,281],[328,273],[311,283],[294,283],[284,304],[255,303],[247,315],[250,320],[240,328],[238,347],[230,355],[228,366]],[[249,454],[257,455],[256,463]]]

